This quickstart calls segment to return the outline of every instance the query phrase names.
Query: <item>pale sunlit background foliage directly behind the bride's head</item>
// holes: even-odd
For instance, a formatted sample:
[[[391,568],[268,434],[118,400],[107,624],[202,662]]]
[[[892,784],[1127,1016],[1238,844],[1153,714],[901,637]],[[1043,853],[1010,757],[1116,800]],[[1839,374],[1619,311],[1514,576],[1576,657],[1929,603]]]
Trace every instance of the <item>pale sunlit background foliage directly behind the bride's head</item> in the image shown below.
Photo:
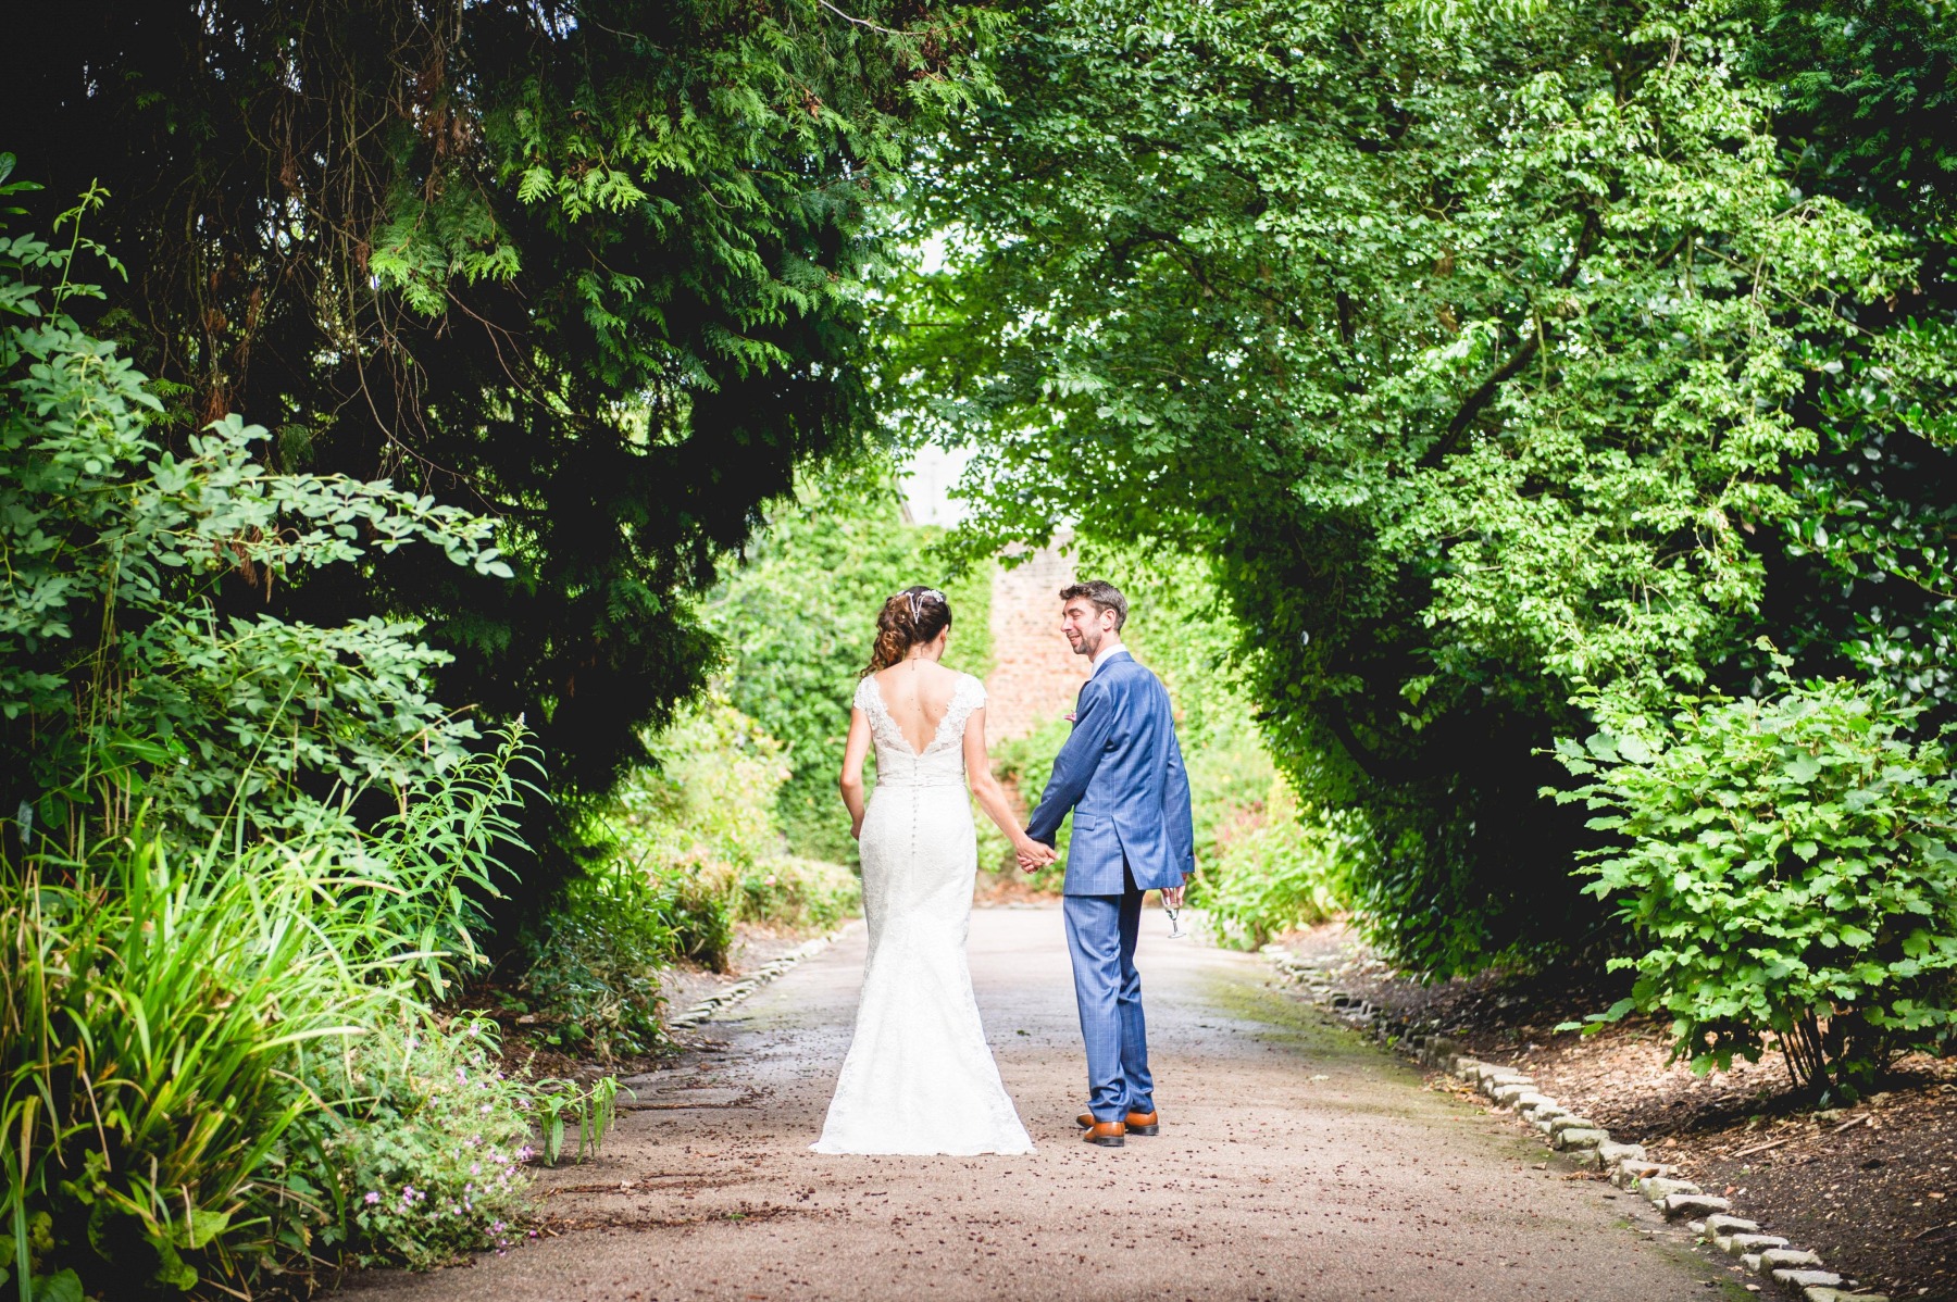
[[[949,575],[939,540],[939,530],[904,522],[888,465],[871,459],[804,481],[703,606],[728,651],[728,698],[787,745],[777,813],[796,854],[855,860],[836,776],[857,674],[892,592],[943,588],[953,618],[945,665],[980,678],[990,669],[992,567]]]

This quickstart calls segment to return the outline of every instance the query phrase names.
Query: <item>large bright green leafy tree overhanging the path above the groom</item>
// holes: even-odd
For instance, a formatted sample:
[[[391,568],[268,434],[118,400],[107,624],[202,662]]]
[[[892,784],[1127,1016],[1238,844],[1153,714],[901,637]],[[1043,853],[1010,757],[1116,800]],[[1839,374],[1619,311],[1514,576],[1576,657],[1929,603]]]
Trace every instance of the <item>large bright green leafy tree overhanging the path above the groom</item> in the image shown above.
[[[1746,686],[1765,622],[1842,596],[1787,553],[1869,499],[1789,481],[1914,246],[1791,194],[1718,4],[1014,22],[1002,98],[916,178],[947,260],[898,285],[887,368],[978,450],[973,547],[1078,520],[1213,557],[1301,802],[1364,815],[1352,888],[1399,962],[1593,936],[1542,753],[1585,684]],[[1932,356],[1885,354],[1883,387]]]

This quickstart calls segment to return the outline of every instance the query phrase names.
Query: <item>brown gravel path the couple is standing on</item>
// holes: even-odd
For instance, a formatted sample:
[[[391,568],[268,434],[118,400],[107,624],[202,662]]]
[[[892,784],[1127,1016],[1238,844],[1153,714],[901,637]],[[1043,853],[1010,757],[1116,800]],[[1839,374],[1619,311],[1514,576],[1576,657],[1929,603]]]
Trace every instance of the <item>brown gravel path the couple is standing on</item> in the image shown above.
[[[1423,1087],[1266,985],[1262,960],[1170,942],[1139,966],[1159,1138],[1080,1144],[1057,909],[984,909],[971,958],[1031,1157],[818,1157],[863,929],[712,1022],[599,1161],[544,1177],[556,1237],[476,1267],[368,1275],[364,1302],[734,1298],[1722,1296],[1687,1234],[1630,1194],[1538,1171],[1505,1118]],[[1746,1296],[1746,1294],[1738,1294]]]

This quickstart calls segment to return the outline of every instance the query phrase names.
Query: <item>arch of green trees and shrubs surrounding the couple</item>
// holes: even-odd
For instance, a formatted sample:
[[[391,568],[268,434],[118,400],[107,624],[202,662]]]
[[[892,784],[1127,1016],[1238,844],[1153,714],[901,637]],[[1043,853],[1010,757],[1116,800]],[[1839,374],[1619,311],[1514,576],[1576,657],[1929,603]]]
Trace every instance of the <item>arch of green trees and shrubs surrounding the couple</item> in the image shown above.
[[[967,557],[1070,522],[1207,567],[1407,968],[1642,952],[1681,1052],[1771,1034],[1834,1089],[1949,1038],[1943,0],[207,0],[10,39],[6,1269],[452,1247],[333,1185],[384,1153],[319,1062],[252,1077],[280,1128],[196,1198],[80,1198],[84,1118],[33,1118],[88,1091],[18,1030],[72,989],[33,974],[245,1007],[123,972],[184,850],[213,952],[260,954],[264,876],[362,974],[282,1017],[427,1013],[603,854],[796,475],[920,440],[977,454]],[[429,1026],[387,1034],[481,1065]],[[252,1134],[333,1187],[266,1202]]]

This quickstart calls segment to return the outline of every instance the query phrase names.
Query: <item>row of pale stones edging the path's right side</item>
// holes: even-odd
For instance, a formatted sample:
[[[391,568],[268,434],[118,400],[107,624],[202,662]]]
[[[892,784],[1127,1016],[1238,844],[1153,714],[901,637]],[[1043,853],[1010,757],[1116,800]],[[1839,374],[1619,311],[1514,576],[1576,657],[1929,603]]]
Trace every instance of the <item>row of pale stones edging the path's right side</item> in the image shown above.
[[[1380,1044],[1423,1067],[1474,1083],[1499,1110],[1515,1112],[1548,1136],[1550,1148],[1579,1169],[1607,1171],[1613,1185],[1642,1194],[1665,1220],[1687,1220],[1703,1239],[1738,1257],[1748,1271],[1800,1290],[1804,1302],[1889,1302],[1883,1294],[1845,1290],[1842,1277],[1824,1269],[1818,1255],[1791,1247],[1777,1234],[1761,1234],[1752,1220],[1732,1216],[1726,1198],[1677,1179],[1675,1167],[1650,1161],[1642,1144],[1613,1142],[1609,1130],[1540,1093],[1528,1075],[1470,1058],[1448,1036],[1409,1034],[1409,1026],[1386,1009],[1333,989],[1323,962],[1299,958],[1276,944],[1266,944],[1262,952],[1286,979],[1303,985],[1313,1003],[1354,1026],[1370,1028]]]

